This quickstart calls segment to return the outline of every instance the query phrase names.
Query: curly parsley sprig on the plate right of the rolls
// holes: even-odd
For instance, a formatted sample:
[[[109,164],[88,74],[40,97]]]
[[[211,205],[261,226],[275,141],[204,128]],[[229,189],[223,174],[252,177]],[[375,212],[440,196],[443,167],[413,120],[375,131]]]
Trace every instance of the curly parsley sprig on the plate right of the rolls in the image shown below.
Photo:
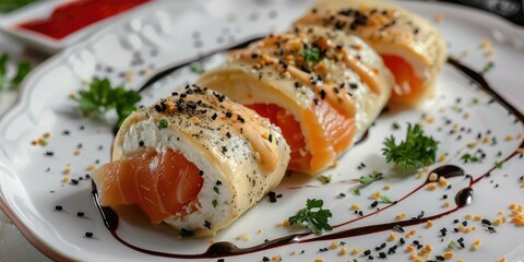
[[[391,135],[385,139],[382,153],[388,163],[394,162],[404,169],[414,169],[434,163],[438,143],[432,136],[427,136],[420,126],[408,123],[406,140],[396,144]]]

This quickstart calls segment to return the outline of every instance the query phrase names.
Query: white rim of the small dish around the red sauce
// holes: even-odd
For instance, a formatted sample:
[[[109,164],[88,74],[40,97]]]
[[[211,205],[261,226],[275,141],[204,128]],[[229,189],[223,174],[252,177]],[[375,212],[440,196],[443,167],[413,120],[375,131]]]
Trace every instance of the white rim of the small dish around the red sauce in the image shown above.
[[[23,41],[25,45],[31,46],[34,49],[47,52],[55,53],[66,47],[70,47],[73,44],[79,43],[82,39],[85,39],[87,36],[96,32],[97,28],[102,28],[104,25],[108,25],[116,19],[121,19],[122,16],[132,16],[133,13],[140,12],[140,10],[147,4],[145,3],[139,7],[135,7],[131,10],[124,11],[120,14],[107,17],[105,20],[93,23],[88,26],[85,26],[61,39],[53,39],[51,37],[45,36],[43,34],[34,33],[32,31],[17,29],[16,25],[27,22],[35,19],[48,17],[55,9],[69,2],[70,0],[47,0],[38,1],[26,7],[23,7],[19,10],[12,11],[0,17],[0,29]],[[86,14],[87,15],[87,14]]]

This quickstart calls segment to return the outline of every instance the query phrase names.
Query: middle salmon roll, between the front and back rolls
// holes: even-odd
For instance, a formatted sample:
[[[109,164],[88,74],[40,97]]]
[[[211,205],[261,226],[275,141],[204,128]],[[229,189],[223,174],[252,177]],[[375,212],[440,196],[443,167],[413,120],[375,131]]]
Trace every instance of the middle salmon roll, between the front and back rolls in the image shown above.
[[[358,37],[305,26],[230,53],[199,84],[271,119],[291,147],[288,169],[314,175],[374,121],[393,78]]]

